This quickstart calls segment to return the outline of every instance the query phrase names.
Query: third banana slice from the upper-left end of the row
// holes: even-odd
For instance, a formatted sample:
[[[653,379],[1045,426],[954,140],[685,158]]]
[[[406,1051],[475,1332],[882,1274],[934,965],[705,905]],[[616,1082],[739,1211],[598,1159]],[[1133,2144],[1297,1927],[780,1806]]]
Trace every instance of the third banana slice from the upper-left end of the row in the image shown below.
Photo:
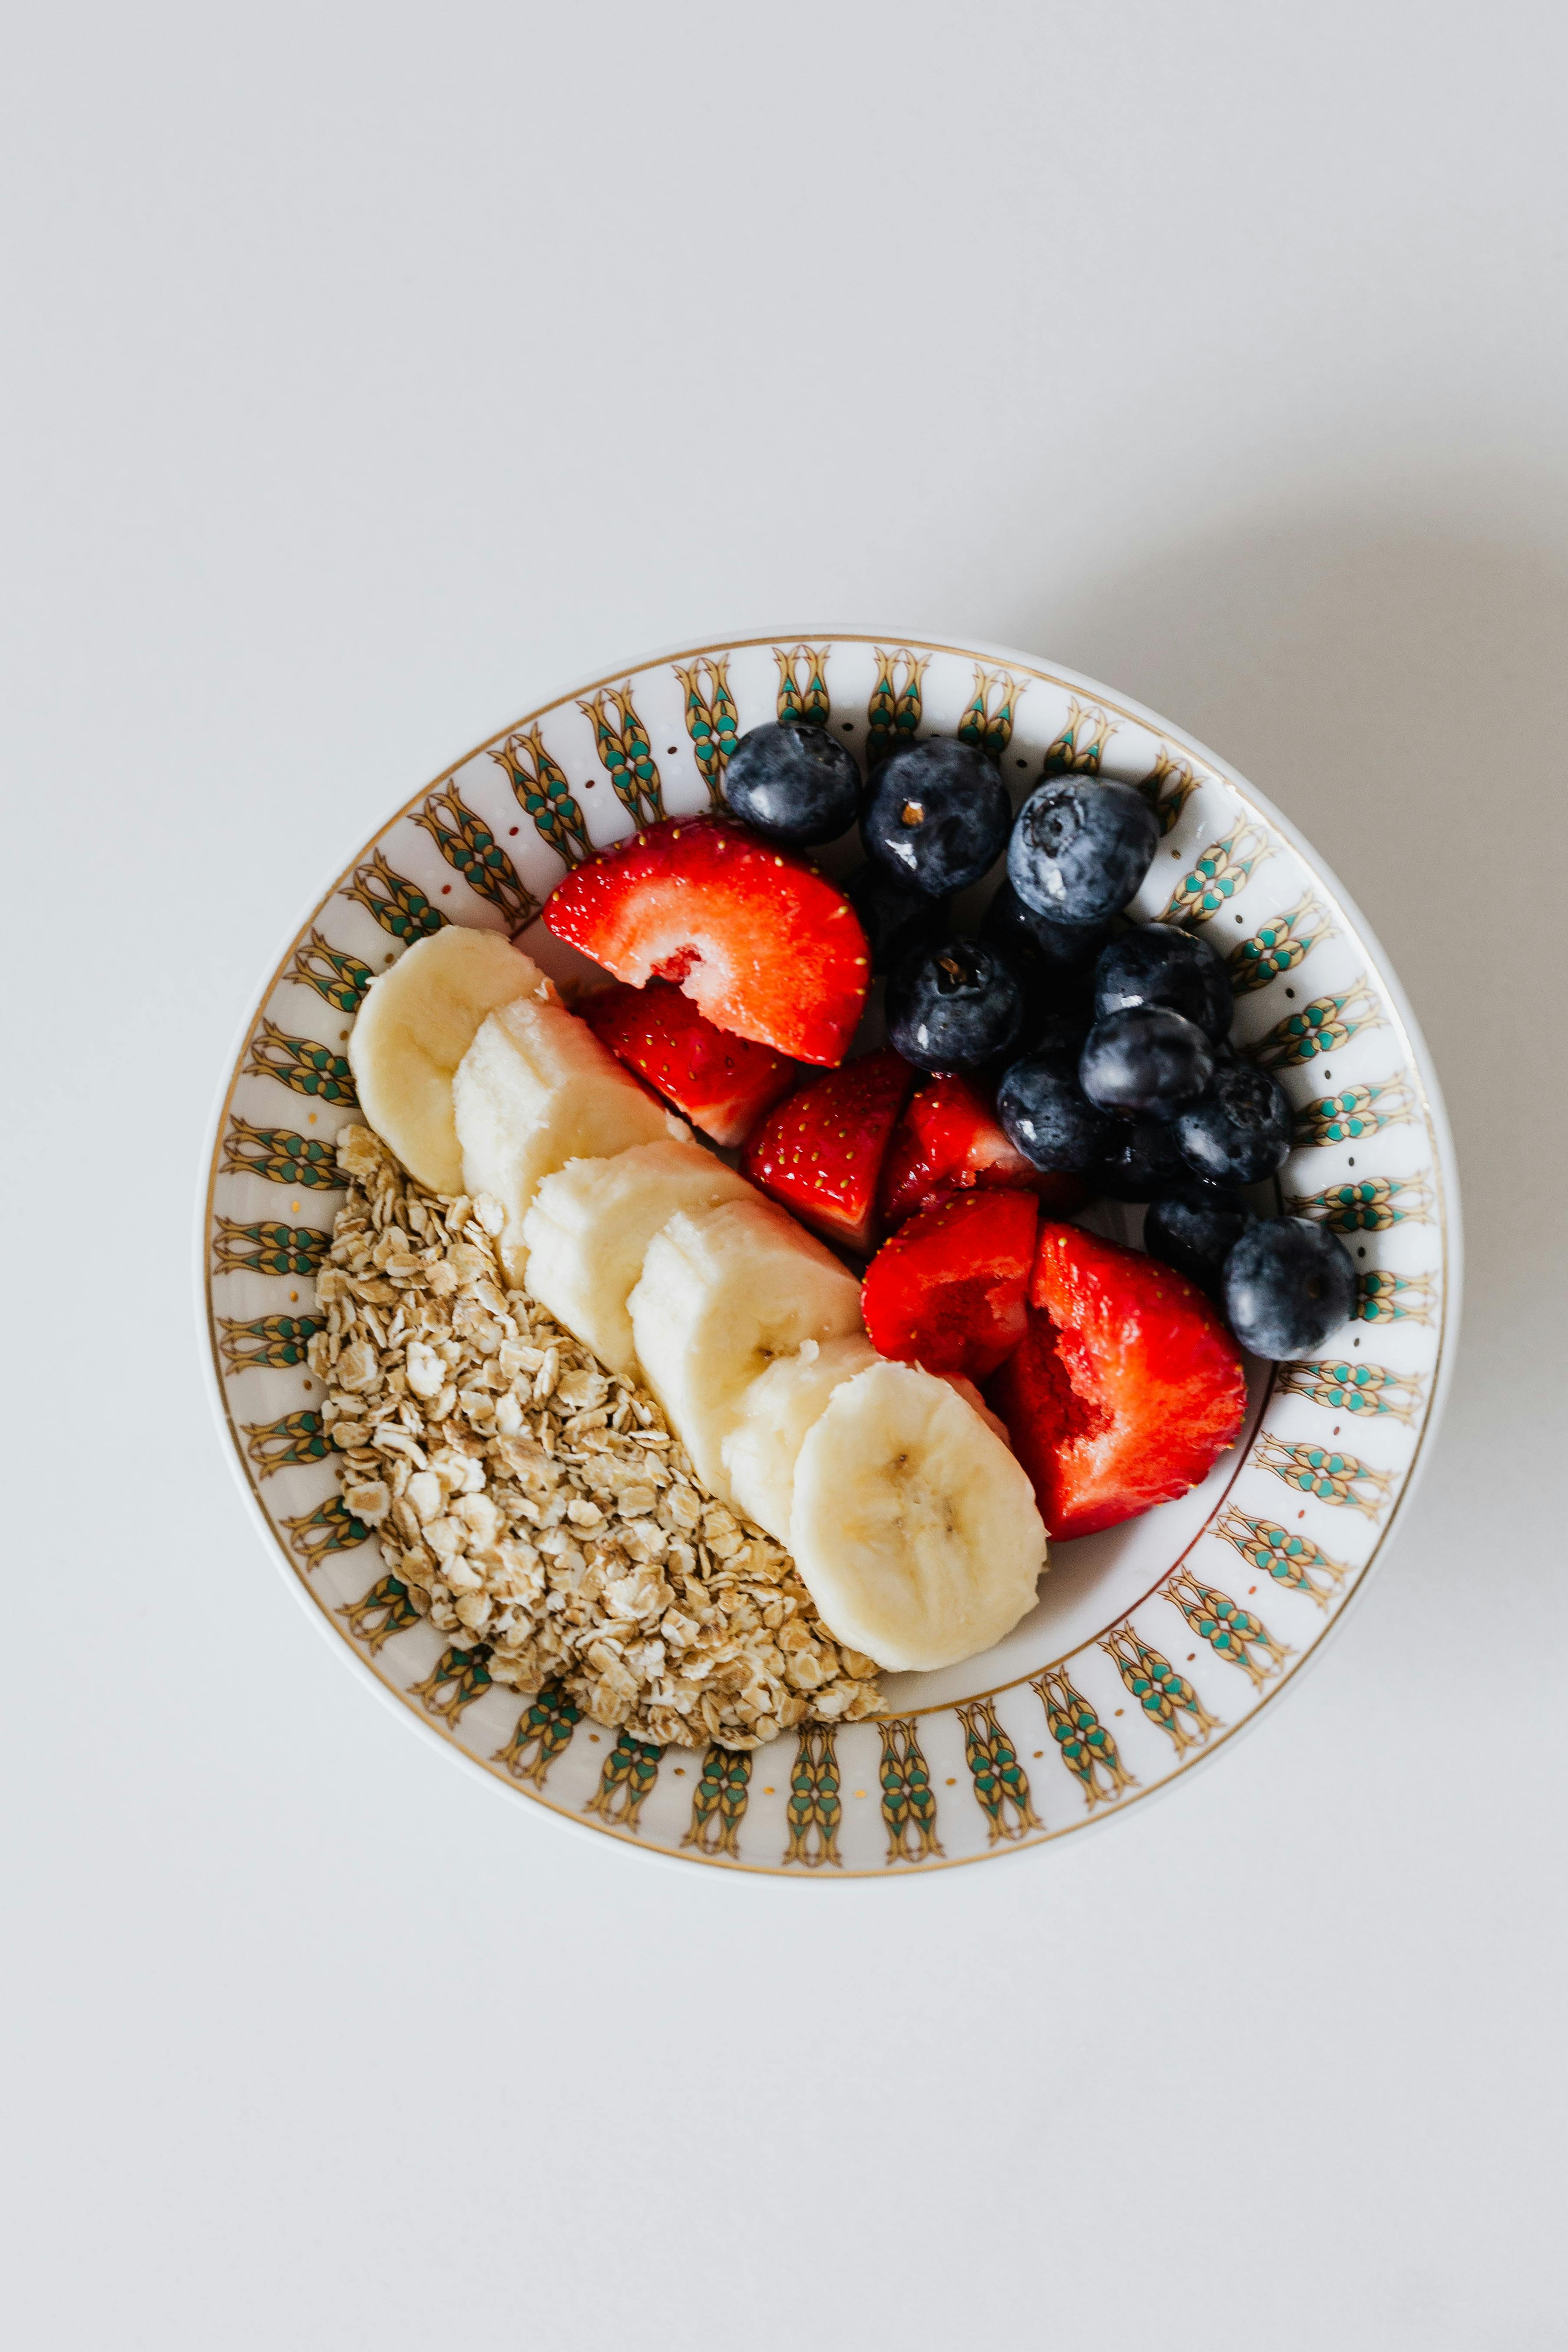
[[[701,1143],[637,1143],[614,1160],[569,1160],[545,1176],[522,1240],[527,1287],[611,1371],[637,1371],[625,1301],[649,1242],[677,1209],[755,1200],[745,1176]]]

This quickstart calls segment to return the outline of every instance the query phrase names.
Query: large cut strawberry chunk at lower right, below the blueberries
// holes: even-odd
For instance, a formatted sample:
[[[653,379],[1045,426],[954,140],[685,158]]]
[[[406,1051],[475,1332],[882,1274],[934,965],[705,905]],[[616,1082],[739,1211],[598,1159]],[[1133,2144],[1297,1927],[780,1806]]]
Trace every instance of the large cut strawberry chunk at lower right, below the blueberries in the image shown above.
[[[1063,1543],[1187,1494],[1241,1435],[1241,1350],[1197,1284],[1079,1225],[1041,1225],[1030,1329],[987,1383]]]

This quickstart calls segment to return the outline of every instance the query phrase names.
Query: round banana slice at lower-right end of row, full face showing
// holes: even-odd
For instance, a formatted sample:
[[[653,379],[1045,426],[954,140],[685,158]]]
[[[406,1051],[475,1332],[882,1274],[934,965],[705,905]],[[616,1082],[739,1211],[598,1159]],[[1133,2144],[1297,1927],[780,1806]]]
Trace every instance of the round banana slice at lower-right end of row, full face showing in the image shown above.
[[[1027,1616],[1046,1531],[1023,1468],[945,1381],[872,1364],[806,1432],[790,1550],[839,1642],[907,1672]]]

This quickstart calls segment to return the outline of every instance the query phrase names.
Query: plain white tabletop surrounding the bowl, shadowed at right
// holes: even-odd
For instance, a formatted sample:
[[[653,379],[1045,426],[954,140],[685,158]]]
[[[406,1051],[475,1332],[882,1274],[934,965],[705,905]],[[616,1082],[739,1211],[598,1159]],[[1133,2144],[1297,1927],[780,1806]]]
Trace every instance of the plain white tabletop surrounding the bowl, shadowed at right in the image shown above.
[[[1563,24],[31,12],[19,2352],[1568,2343]],[[252,1531],[190,1310],[317,880],[574,677],[811,616],[1034,649],[1251,774],[1467,1185],[1448,1423],[1321,1668],[1171,1799],[896,1886],[658,1865],[442,1762]]]

